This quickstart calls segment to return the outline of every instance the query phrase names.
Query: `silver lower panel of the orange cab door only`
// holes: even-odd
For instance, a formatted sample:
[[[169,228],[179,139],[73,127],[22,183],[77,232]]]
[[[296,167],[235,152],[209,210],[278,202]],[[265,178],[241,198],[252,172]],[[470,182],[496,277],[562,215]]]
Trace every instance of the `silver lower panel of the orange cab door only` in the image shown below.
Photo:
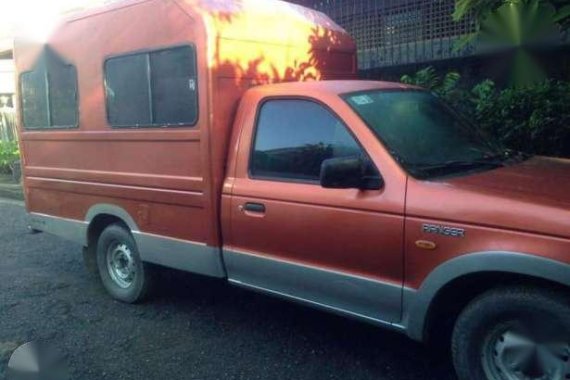
[[[232,284],[367,322],[399,325],[402,287],[258,255],[224,250]]]

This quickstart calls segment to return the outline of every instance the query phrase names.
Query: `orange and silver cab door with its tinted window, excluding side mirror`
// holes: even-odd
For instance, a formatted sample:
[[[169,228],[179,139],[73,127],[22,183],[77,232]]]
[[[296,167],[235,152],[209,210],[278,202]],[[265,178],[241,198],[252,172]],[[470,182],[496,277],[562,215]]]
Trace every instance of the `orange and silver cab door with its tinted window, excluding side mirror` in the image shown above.
[[[229,281],[398,322],[405,179],[384,177],[382,189],[369,191],[319,182],[323,161],[339,157],[365,157],[384,175],[374,162],[378,141],[362,123],[349,129],[332,108],[309,98],[260,99],[245,123],[224,195]]]

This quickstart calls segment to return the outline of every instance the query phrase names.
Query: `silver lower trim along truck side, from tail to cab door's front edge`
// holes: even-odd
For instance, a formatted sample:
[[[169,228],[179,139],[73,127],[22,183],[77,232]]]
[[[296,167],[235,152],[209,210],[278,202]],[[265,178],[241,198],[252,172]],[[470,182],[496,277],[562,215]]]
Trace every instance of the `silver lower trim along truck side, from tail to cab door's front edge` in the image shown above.
[[[31,228],[87,246],[87,222],[37,213],[29,217]],[[132,233],[143,261],[211,277],[228,277],[230,283],[240,287],[405,330],[401,325],[402,286],[243,252],[222,252],[202,243]]]

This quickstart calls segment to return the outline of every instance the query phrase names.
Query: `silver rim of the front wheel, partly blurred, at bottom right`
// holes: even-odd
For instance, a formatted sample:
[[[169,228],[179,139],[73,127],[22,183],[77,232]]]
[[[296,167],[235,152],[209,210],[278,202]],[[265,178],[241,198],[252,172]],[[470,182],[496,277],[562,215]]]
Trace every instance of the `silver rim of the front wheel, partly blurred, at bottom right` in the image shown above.
[[[537,342],[514,327],[491,334],[482,354],[489,380],[567,380],[569,358],[570,343]]]

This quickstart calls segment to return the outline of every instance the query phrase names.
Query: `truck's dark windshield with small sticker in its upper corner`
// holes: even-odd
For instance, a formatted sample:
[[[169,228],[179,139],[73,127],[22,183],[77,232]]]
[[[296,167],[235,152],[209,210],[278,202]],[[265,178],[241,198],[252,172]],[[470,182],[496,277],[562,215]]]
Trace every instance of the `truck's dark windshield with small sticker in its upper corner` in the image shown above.
[[[415,177],[492,169],[506,158],[497,142],[427,91],[375,90],[344,99]]]

